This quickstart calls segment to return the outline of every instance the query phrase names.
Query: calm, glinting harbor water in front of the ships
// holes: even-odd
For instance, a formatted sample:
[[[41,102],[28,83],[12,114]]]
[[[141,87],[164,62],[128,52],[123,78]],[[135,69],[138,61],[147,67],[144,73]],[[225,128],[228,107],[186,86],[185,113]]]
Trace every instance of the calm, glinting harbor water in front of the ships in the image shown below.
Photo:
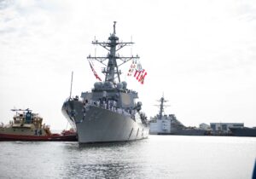
[[[149,136],[79,145],[1,141],[0,178],[252,178],[256,137]]]

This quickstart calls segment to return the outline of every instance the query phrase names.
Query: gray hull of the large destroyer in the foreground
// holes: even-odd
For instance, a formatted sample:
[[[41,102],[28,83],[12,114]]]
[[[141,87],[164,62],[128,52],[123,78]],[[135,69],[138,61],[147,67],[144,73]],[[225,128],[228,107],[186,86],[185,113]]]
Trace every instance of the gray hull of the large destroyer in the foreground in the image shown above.
[[[80,101],[67,101],[62,113],[75,125],[79,143],[133,141],[148,137],[149,128],[130,116],[102,107],[87,107]]]

